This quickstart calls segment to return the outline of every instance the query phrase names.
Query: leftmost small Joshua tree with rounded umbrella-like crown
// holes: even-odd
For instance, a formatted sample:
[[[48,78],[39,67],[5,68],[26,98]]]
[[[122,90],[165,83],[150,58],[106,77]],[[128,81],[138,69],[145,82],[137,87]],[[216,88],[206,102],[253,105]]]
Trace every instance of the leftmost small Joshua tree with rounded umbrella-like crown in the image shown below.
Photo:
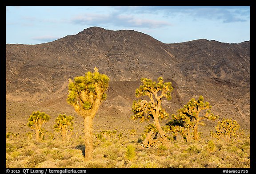
[[[44,112],[36,111],[29,116],[28,126],[36,130],[36,140],[39,140],[42,124],[48,120],[50,120],[50,116]]]

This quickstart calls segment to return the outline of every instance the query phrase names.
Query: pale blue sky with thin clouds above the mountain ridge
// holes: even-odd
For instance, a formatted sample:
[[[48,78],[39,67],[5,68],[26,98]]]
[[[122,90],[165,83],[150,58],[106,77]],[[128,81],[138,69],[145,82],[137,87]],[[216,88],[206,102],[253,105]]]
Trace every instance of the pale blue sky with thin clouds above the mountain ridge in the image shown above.
[[[134,30],[162,43],[250,40],[250,6],[6,6],[6,43],[40,44],[89,27]]]

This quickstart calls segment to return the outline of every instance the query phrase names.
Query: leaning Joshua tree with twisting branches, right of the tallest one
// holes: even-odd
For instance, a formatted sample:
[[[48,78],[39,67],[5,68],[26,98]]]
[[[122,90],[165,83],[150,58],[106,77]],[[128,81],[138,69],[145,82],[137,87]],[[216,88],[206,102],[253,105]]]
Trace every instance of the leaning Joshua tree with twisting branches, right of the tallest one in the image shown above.
[[[168,100],[171,100],[171,92],[173,90],[171,82],[165,82],[163,77],[159,77],[158,83],[153,82],[151,79],[142,78],[141,82],[143,85],[140,85],[135,91],[136,97],[148,96],[150,101],[139,100],[133,101],[132,104],[132,119],[136,120],[140,118],[141,122],[144,120],[153,119],[156,129],[160,134],[160,141],[166,147],[168,147],[168,139],[165,135],[163,129],[160,126],[159,120],[167,118],[169,115],[162,108],[162,98],[166,97]]]

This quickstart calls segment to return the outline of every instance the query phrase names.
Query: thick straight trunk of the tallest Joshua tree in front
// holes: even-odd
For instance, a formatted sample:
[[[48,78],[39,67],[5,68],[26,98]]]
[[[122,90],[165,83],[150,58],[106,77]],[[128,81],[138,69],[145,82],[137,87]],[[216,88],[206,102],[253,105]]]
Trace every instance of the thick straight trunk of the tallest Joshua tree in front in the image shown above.
[[[92,159],[92,151],[93,151],[92,124],[93,124],[93,117],[85,116],[84,117],[84,144],[85,144],[85,160],[86,161]]]

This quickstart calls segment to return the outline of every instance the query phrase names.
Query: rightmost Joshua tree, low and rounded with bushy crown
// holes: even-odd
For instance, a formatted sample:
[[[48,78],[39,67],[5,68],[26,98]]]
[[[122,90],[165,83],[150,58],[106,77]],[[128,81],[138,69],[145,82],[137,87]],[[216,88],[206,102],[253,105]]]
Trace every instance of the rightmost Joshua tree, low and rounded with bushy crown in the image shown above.
[[[226,142],[229,142],[232,137],[238,137],[239,128],[240,125],[237,123],[236,120],[228,118],[222,119],[221,121],[218,121],[217,126],[215,126],[216,130],[213,136],[215,136],[217,139],[223,137]]]

